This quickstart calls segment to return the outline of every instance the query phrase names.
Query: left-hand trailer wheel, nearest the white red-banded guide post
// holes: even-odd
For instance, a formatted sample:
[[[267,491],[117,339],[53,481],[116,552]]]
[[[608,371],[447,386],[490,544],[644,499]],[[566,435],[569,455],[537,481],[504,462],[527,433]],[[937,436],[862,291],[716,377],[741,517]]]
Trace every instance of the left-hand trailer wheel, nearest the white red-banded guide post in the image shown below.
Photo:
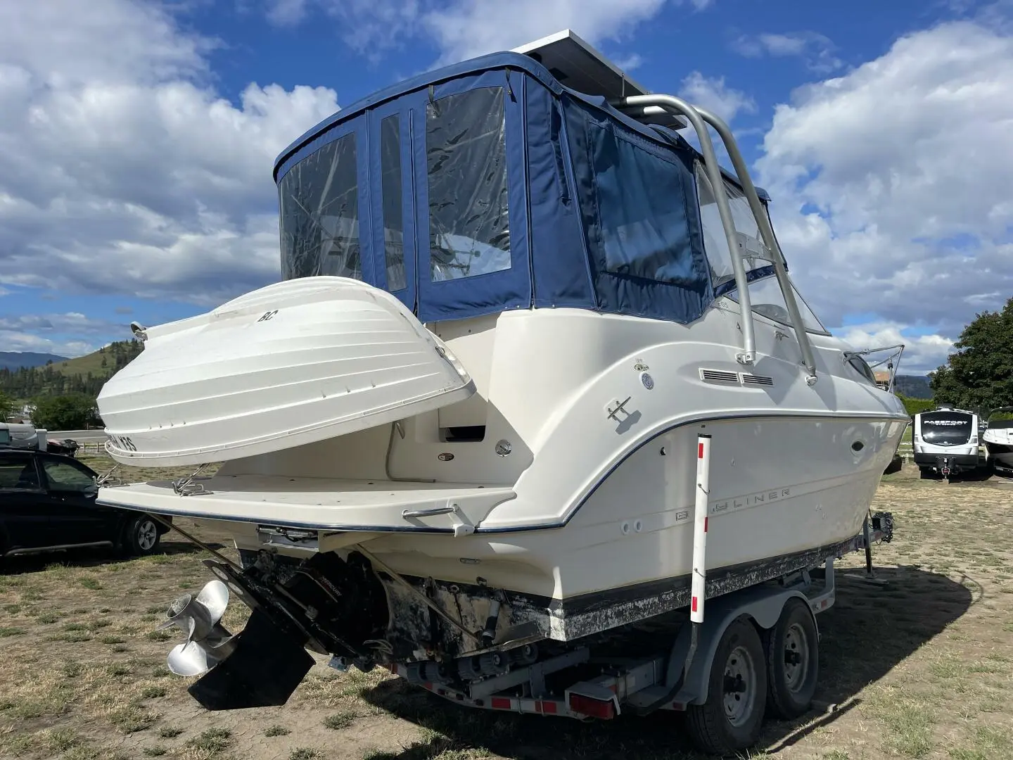
[[[763,724],[767,666],[757,629],[746,618],[724,631],[710,666],[707,701],[686,712],[690,738],[712,755],[729,755],[756,744]]]

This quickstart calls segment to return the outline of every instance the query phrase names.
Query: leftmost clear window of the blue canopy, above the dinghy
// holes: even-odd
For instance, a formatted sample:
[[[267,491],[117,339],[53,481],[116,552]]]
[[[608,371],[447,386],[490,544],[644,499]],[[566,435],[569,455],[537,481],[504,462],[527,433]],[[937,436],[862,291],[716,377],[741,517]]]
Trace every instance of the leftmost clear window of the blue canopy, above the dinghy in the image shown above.
[[[345,135],[297,163],[279,185],[282,274],[361,280],[356,136]]]

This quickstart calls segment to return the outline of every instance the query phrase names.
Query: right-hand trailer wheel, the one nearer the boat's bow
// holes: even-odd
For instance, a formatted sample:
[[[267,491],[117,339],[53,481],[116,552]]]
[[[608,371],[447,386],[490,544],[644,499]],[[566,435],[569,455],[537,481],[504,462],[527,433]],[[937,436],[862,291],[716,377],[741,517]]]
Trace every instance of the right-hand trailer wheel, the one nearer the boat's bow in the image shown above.
[[[820,651],[812,613],[789,599],[767,639],[767,709],[792,719],[809,710],[820,678]]]

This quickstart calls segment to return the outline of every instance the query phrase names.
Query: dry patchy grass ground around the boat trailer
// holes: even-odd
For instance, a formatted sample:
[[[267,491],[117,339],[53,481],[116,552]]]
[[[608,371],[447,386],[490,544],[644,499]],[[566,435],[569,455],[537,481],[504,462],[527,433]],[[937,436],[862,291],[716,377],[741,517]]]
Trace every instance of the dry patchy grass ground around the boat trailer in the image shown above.
[[[839,576],[837,604],[820,617],[819,709],[768,724],[754,756],[1013,757],[1011,502],[1013,487],[994,479],[923,481],[910,466],[884,477],[875,508],[893,511],[898,535],[876,560],[889,585]],[[154,630],[173,597],[211,578],[205,553],[177,538],[145,559],[26,557],[0,572],[0,756],[694,757],[675,713],[582,725],[472,712],[380,671],[322,663],[284,707],[208,712],[164,667],[177,636]],[[233,629],[241,608],[227,613]]]

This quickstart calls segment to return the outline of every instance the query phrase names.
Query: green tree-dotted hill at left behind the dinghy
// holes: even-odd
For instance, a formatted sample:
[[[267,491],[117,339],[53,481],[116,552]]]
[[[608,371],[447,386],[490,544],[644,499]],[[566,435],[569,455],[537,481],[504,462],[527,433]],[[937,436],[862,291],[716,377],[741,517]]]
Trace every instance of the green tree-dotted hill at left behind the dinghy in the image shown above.
[[[22,369],[0,366],[0,391],[23,400],[64,393],[95,396],[112,373],[125,367],[143,349],[144,344],[137,339],[118,340],[76,359],[54,357],[53,364],[48,366],[45,361]]]

